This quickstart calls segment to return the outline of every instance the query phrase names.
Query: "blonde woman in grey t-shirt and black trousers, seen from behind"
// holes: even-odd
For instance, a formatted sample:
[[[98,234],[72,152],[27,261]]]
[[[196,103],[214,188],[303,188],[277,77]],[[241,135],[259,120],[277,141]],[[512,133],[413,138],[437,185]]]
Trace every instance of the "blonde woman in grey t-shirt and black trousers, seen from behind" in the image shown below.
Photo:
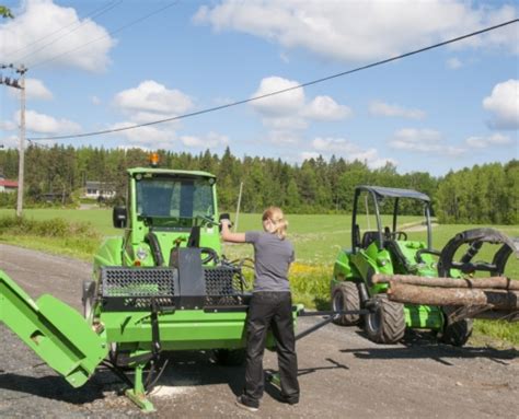
[[[293,246],[286,238],[288,221],[281,209],[269,207],[263,212],[263,232],[232,233],[230,221],[222,220],[226,242],[251,243],[254,246],[254,289],[246,319],[245,388],[237,405],[256,411],[264,389],[263,353],[267,331],[276,338],[281,380],[281,400],[299,403],[298,360],[293,336],[292,299],[288,269],[293,261]]]

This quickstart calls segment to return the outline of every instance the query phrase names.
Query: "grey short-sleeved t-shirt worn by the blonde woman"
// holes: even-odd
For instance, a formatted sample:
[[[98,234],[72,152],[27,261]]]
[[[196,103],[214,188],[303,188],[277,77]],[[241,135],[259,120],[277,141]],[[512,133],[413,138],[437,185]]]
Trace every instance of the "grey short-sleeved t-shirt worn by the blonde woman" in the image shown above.
[[[245,242],[254,245],[254,291],[290,291],[288,268],[295,259],[293,246],[277,234],[247,231]]]

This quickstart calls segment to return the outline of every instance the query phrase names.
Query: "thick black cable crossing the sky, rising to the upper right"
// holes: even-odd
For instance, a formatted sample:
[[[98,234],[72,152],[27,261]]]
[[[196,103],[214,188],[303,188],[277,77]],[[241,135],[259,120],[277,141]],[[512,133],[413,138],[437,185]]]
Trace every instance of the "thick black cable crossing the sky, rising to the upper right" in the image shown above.
[[[298,85],[295,85],[295,86],[291,86],[291,88],[278,90],[278,91],[270,92],[270,93],[265,93],[265,94],[262,94],[260,96],[254,96],[254,97],[245,98],[245,100],[242,100],[242,101],[232,102],[232,103],[229,103],[229,104],[226,104],[226,105],[209,107],[209,108],[206,108],[206,109],[192,112],[192,113],[188,113],[188,114],[177,115],[177,116],[173,116],[173,117],[164,118],[164,119],[158,119],[158,120],[154,120],[154,121],[151,121],[151,123],[146,123],[146,124],[131,125],[131,126],[128,126],[128,127],[105,129],[105,130],[101,130],[101,131],[83,132],[83,133],[68,135],[68,136],[35,137],[35,138],[32,138],[31,140],[33,140],[33,141],[37,141],[37,140],[65,140],[65,139],[69,139],[69,138],[83,138],[83,137],[101,136],[101,135],[105,135],[105,133],[127,131],[127,130],[130,130],[130,129],[136,129],[136,128],[141,128],[141,127],[149,127],[151,125],[164,124],[164,123],[170,123],[170,121],[177,120],[177,119],[185,119],[185,118],[189,118],[189,117],[193,117],[193,116],[208,114],[208,113],[211,113],[211,112],[226,109],[228,107],[233,107],[233,106],[238,106],[238,105],[243,105],[245,103],[260,101],[260,100],[265,98],[265,97],[272,97],[272,96],[275,96],[275,95],[278,95],[278,94],[291,92],[293,90],[298,90],[298,89],[302,89],[302,88],[305,88],[305,86],[309,86],[309,85],[322,83],[322,82],[325,82],[325,81],[328,81],[328,80],[332,80],[332,79],[336,79],[336,78],[339,78],[339,77],[343,77],[343,75],[351,74],[354,72],[367,70],[367,69],[378,67],[378,66],[381,66],[381,65],[384,65],[384,63],[388,63],[388,62],[391,62],[391,61],[395,61],[395,60],[399,60],[399,59],[402,59],[402,58],[411,57],[411,56],[416,55],[416,54],[425,53],[425,51],[430,50],[430,49],[439,48],[439,47],[442,47],[445,45],[453,44],[453,43],[460,42],[462,39],[470,38],[472,36],[476,36],[476,35],[481,35],[481,34],[486,33],[486,32],[495,31],[499,27],[504,27],[504,26],[507,26],[507,25],[510,25],[510,24],[517,23],[517,22],[519,22],[519,19],[515,19],[515,20],[511,20],[511,21],[508,21],[508,22],[504,22],[504,23],[500,23],[500,24],[495,25],[495,26],[485,27],[483,30],[472,32],[470,34],[458,36],[455,38],[451,38],[451,39],[445,40],[442,43],[430,45],[428,47],[424,47],[424,48],[420,48],[420,49],[415,49],[413,51],[405,53],[405,54],[402,54],[402,55],[399,55],[399,56],[395,56],[395,57],[387,58],[387,59],[383,59],[381,61],[376,61],[376,62],[372,62],[372,63],[369,63],[369,65],[366,65],[366,66],[357,67],[353,70],[343,71],[343,72],[335,73],[335,74],[332,74],[332,75],[327,75],[327,77],[324,77],[324,78],[321,78],[321,79],[316,79],[316,80],[312,80],[312,81],[309,81],[309,82],[305,82],[305,83],[301,83],[301,84],[298,84]]]

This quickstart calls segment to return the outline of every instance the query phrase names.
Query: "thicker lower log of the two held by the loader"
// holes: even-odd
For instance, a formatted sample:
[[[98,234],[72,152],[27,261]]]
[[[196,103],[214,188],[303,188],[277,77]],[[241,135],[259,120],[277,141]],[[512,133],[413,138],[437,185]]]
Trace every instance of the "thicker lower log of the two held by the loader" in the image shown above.
[[[519,310],[519,292],[508,290],[419,287],[392,281],[391,301],[428,305],[481,305],[496,310]]]

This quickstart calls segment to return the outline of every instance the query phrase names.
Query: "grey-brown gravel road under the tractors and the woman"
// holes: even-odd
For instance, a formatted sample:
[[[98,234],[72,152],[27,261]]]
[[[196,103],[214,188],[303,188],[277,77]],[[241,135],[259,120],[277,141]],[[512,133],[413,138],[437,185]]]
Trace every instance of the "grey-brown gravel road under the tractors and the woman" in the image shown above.
[[[89,264],[0,244],[0,269],[31,296],[50,293],[80,310]],[[0,300],[1,304],[1,300]],[[301,318],[298,330],[319,319]],[[81,388],[42,364],[0,325],[0,417],[141,417],[108,371]],[[452,348],[427,335],[378,346],[356,328],[326,326],[298,341],[301,403],[286,406],[267,385],[261,410],[243,411],[234,398],[242,368],[223,368],[207,353],[173,353],[151,396],[149,417],[181,418],[519,418],[519,352]],[[275,369],[268,352],[265,368]]]

